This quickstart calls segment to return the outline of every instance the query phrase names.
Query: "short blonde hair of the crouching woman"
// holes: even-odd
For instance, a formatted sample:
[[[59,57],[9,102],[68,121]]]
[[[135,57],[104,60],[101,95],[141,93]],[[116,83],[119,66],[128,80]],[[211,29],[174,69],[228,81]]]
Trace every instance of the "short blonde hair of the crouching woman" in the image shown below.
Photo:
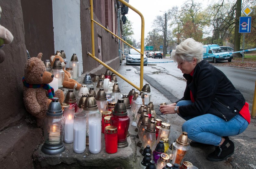
[[[197,63],[203,60],[203,44],[195,41],[192,38],[188,38],[176,46],[175,50],[172,50],[171,56],[176,63],[182,61],[192,62],[194,58],[197,59]]]

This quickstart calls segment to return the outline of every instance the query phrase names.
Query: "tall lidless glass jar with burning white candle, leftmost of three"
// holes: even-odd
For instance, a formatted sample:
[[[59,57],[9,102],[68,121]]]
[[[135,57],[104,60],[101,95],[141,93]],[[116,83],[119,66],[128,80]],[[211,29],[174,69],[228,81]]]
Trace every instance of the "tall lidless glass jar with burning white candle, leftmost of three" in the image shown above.
[[[65,107],[63,116],[66,120],[64,131],[64,142],[73,143],[74,140],[74,113],[75,107]]]

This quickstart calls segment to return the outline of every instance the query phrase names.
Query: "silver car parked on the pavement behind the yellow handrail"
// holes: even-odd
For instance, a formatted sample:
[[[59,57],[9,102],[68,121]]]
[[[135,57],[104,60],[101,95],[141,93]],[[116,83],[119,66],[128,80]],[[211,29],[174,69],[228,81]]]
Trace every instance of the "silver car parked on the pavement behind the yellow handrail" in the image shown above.
[[[140,51],[140,48],[136,48],[138,51]],[[128,55],[126,56],[126,65],[130,64],[138,64],[140,65],[140,53],[137,52],[135,49],[130,48]],[[148,65],[148,58],[144,52],[144,66]]]

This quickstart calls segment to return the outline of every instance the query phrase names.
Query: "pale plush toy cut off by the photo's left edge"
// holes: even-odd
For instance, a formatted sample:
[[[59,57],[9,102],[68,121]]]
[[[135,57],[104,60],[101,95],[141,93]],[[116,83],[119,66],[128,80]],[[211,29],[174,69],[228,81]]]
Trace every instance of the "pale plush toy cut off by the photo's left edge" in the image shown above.
[[[0,17],[1,17],[1,6],[0,6]],[[0,25],[0,63],[2,63],[5,60],[5,52],[2,50],[2,48],[5,46],[5,44],[11,43],[13,40],[12,33],[6,29],[5,27]]]

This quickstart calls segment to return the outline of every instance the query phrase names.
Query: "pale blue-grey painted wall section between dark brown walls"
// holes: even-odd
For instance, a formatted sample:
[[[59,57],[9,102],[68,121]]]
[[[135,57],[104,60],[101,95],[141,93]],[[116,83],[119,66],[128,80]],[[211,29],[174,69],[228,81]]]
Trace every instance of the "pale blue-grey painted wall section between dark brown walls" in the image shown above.
[[[82,44],[80,29],[80,0],[52,1],[54,49],[64,50],[70,63],[76,53],[79,61],[79,76],[83,72]]]

